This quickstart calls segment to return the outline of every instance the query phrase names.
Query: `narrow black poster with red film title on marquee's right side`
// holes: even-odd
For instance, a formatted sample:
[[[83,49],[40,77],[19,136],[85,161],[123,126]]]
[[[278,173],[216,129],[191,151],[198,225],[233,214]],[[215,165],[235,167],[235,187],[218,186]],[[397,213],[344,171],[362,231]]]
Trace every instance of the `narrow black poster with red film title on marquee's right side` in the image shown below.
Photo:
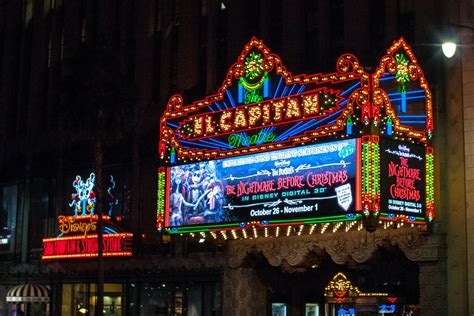
[[[382,212],[424,216],[426,211],[426,149],[424,146],[382,138],[380,178]]]

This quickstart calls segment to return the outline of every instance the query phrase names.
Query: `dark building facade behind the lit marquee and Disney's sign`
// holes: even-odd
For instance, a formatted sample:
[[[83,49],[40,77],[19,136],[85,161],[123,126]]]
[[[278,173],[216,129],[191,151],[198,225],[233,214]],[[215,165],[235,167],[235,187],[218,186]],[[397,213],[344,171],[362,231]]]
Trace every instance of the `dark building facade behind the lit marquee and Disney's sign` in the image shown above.
[[[104,258],[108,315],[270,315],[279,306],[329,315],[324,290],[338,272],[363,292],[403,297],[405,312],[473,314],[473,12],[461,0],[2,1],[0,314],[25,309],[4,298],[26,282],[50,290],[33,315],[92,313],[98,261],[41,260],[41,240],[57,235],[58,216],[74,215],[76,176],[100,166],[108,188],[111,175],[115,183],[102,211],[133,233],[131,256]],[[448,31],[465,44],[450,60],[435,45]],[[216,93],[252,36],[293,74],[333,72],[346,52],[373,72],[406,39],[433,97],[435,220],[426,229],[330,226],[204,242],[158,231],[167,101]]]

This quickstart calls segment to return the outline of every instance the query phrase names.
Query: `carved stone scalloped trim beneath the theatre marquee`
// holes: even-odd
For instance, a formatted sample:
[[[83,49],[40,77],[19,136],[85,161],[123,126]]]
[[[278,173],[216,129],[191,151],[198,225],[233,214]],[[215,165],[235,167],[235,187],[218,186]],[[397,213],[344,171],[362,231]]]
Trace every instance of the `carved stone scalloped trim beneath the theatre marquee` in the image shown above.
[[[439,239],[439,238],[438,238]],[[417,228],[376,231],[367,237],[365,232],[341,232],[326,235],[306,235],[257,240],[230,241],[228,264],[242,265],[252,252],[261,253],[272,266],[285,261],[300,266],[309,253],[327,252],[337,264],[344,264],[349,257],[356,262],[367,261],[380,246],[398,245],[412,261],[433,261],[442,256],[443,243],[437,237],[425,237]]]

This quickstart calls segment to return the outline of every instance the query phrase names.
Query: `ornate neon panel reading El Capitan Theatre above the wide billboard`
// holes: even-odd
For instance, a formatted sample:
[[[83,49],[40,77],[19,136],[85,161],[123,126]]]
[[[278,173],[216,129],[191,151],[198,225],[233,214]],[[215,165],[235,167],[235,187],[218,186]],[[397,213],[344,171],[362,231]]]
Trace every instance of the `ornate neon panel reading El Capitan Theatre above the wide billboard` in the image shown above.
[[[173,96],[160,123],[168,163],[219,159],[293,147],[323,136],[356,135],[368,117],[368,75],[350,54],[337,72],[296,76],[253,39],[216,95],[183,105]],[[363,109],[362,109],[363,108]]]

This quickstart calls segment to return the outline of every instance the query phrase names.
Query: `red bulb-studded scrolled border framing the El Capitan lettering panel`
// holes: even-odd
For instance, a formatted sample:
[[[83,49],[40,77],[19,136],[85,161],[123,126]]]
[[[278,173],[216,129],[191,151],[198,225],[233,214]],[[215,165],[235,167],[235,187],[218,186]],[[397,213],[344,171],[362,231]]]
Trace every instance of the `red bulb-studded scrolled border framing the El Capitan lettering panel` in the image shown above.
[[[344,111],[339,115],[335,122],[331,125],[323,125],[317,130],[306,131],[303,135],[292,137],[288,140],[278,142],[278,143],[269,143],[262,145],[255,145],[247,148],[235,148],[230,150],[209,150],[209,149],[185,149],[182,147],[175,136],[175,131],[166,125],[166,122],[171,119],[179,117],[188,117],[190,115],[200,115],[199,111],[203,108],[207,108],[211,103],[220,101],[224,99],[225,91],[232,84],[237,84],[239,80],[245,73],[245,57],[251,50],[260,50],[264,56],[263,70],[269,72],[275,70],[277,75],[281,75],[284,78],[285,84],[290,85],[294,83],[298,84],[324,84],[324,83],[340,83],[349,80],[359,80],[361,87],[352,92],[352,94],[347,98],[348,104]],[[328,136],[331,133],[341,131],[344,128],[345,121],[347,116],[350,114],[355,114],[354,106],[363,102],[364,104],[368,102],[368,97],[364,97],[366,94],[368,96],[368,87],[369,87],[369,75],[364,71],[364,69],[359,65],[359,61],[354,55],[345,54],[339,57],[336,63],[337,72],[330,74],[315,74],[315,75],[298,75],[292,76],[288,72],[281,62],[280,57],[275,54],[271,54],[270,50],[263,44],[262,41],[257,40],[255,37],[252,37],[251,41],[245,45],[244,50],[237,59],[237,62],[234,63],[227,73],[226,79],[224,80],[222,86],[218,89],[218,92],[214,95],[207,96],[203,100],[193,102],[191,105],[184,106],[183,99],[180,95],[172,96],[167,104],[165,113],[163,114],[160,120],[160,141],[159,141],[159,150],[162,152],[163,148],[166,148],[166,145],[175,148],[178,159],[217,159],[223,157],[229,157],[234,155],[244,155],[253,152],[269,151],[275,149],[283,149],[293,147],[295,144],[301,144],[309,142],[313,139]],[[324,87],[322,87],[324,88]],[[328,88],[328,87],[326,87]],[[270,100],[269,100],[270,101]],[[240,130],[239,130],[240,131]],[[243,130],[242,130],[243,131]],[[242,132],[241,131],[241,132]],[[166,155],[165,155],[166,156]]]

